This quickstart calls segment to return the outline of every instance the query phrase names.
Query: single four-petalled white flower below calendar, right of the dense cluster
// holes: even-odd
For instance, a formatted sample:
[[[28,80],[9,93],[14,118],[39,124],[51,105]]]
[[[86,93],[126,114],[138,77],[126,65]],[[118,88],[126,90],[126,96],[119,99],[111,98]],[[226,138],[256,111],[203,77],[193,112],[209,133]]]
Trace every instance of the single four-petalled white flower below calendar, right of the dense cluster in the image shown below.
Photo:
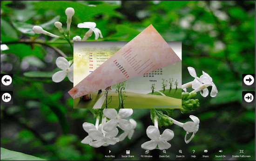
[[[142,149],[153,150],[157,146],[160,150],[168,149],[171,147],[171,144],[167,141],[171,140],[174,137],[174,132],[172,130],[166,129],[160,135],[160,131],[155,126],[148,126],[147,136],[151,139],[148,142],[144,142],[141,145]]]

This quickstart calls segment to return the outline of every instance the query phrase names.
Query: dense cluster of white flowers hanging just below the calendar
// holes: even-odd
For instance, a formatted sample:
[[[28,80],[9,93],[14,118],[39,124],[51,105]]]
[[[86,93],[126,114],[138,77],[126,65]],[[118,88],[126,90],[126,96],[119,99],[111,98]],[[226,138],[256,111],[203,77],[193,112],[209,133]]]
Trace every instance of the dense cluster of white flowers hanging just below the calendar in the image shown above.
[[[83,129],[88,133],[81,143],[89,144],[94,148],[101,146],[114,145],[117,142],[123,141],[127,136],[129,139],[134,134],[134,129],[137,125],[134,119],[126,120],[132,115],[132,109],[120,109],[119,112],[115,109],[104,109],[101,115],[96,118],[96,123],[84,123]],[[100,118],[102,118],[101,124]],[[107,118],[109,121],[107,121]],[[124,132],[117,137],[120,128]]]

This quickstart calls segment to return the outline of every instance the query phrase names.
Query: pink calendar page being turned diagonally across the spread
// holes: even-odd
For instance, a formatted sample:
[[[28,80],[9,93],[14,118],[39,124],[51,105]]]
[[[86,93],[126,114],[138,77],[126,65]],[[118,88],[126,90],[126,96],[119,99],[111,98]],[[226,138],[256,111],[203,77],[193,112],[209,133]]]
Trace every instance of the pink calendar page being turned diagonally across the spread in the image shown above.
[[[180,61],[153,25],[149,25],[68,93],[76,99]]]

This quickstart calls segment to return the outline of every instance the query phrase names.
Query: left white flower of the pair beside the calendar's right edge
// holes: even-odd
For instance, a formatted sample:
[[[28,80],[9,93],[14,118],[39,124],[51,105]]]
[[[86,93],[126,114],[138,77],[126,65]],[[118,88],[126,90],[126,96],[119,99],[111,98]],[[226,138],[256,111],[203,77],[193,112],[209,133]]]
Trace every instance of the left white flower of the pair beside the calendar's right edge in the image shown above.
[[[193,88],[193,89],[197,89],[197,88],[199,88],[200,86],[202,86],[203,82],[201,81],[200,78],[198,78],[198,77],[196,76],[195,69],[192,68],[192,67],[188,67],[188,70],[189,70],[189,74],[190,74],[192,77],[195,78],[195,80],[192,82],[192,88]],[[205,87],[205,88],[203,88],[202,90],[200,90],[200,93],[201,93],[201,95],[202,95],[203,97],[206,97],[206,96],[208,96],[209,91],[208,91],[207,87]]]

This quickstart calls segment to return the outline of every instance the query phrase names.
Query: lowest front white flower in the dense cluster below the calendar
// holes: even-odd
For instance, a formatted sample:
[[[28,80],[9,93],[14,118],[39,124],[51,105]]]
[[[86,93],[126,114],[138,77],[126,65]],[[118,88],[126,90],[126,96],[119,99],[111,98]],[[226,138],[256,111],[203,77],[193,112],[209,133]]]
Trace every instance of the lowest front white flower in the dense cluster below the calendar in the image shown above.
[[[104,144],[114,145],[116,142],[119,142],[119,138],[115,137],[118,134],[117,128],[110,132],[101,132],[96,129],[90,129],[88,134],[89,137],[93,139],[93,141],[90,142],[89,145],[91,145],[94,148],[99,148]]]

